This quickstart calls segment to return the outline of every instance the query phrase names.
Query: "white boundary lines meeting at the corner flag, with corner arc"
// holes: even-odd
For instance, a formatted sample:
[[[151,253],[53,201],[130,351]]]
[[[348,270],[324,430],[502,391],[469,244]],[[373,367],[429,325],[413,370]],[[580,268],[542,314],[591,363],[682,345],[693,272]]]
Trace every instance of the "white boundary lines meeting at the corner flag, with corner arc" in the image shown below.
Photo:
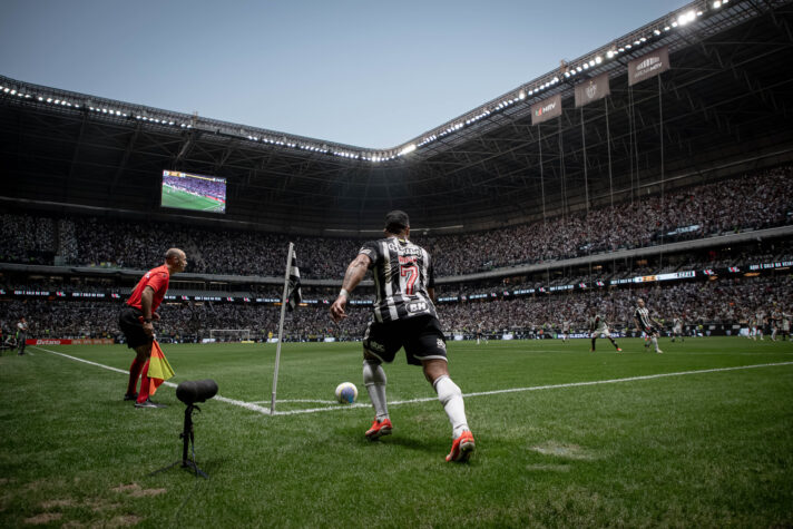
[[[87,364],[96,365],[98,368],[102,368],[106,370],[110,371],[116,371],[118,373],[124,373],[124,374],[129,374],[128,371],[120,370],[118,368],[111,368],[109,365],[100,364],[97,362],[91,362],[89,360],[82,360],[78,359],[77,356],[71,356],[68,354],[59,353],[57,351],[50,351],[48,349],[39,347],[36,345],[31,345],[31,347],[36,347],[41,351],[46,351],[48,353],[57,354],[59,356],[63,356],[70,360],[76,360],[78,362],[84,362]],[[476,393],[463,393],[462,396],[464,398],[471,398],[471,396],[486,396],[486,395],[498,395],[501,393],[520,393],[525,391],[540,391],[540,390],[557,390],[561,388],[580,388],[580,386],[586,386],[586,385],[599,385],[599,384],[616,384],[619,382],[635,382],[637,380],[652,380],[652,379],[663,379],[666,376],[684,376],[687,374],[703,374],[703,373],[718,373],[723,371],[740,371],[740,370],[750,370],[750,369],[758,369],[758,368],[775,368],[780,365],[793,365],[793,362],[774,362],[774,363],[768,363],[768,364],[754,364],[754,365],[737,365],[734,368],[714,368],[714,369],[708,369],[708,370],[695,370],[695,371],[678,371],[676,373],[658,373],[658,374],[646,374],[642,376],[629,376],[626,379],[608,379],[608,380],[593,380],[589,382],[569,382],[566,384],[549,384],[549,385],[535,385],[530,388],[510,388],[507,390],[492,390],[492,391],[479,391]],[[164,384],[167,384],[172,388],[176,388],[176,384],[173,382],[164,382]],[[264,408],[261,405],[257,405],[255,402],[245,402],[245,401],[237,401],[234,399],[227,399],[225,396],[221,395],[215,395],[215,399],[225,402],[227,404],[234,404],[238,405],[242,408],[246,408],[252,411],[256,411],[258,413],[263,413],[268,415],[270,414],[270,408]],[[410,399],[407,401],[392,401],[389,402],[389,405],[401,405],[401,404],[414,404],[419,402],[434,402],[437,401],[437,396],[424,396],[421,399]],[[262,402],[262,401],[257,401]],[[295,400],[284,400],[284,401],[276,401],[276,402],[330,402],[330,401],[314,401],[314,400],[309,400],[309,399],[295,399]],[[337,411],[337,410],[352,410],[355,408],[371,408],[370,404],[346,404],[346,405],[340,405],[340,406],[333,406],[333,408],[310,408],[306,410],[290,410],[290,411],[276,411],[276,415],[297,415],[301,413],[319,413],[323,411]]]

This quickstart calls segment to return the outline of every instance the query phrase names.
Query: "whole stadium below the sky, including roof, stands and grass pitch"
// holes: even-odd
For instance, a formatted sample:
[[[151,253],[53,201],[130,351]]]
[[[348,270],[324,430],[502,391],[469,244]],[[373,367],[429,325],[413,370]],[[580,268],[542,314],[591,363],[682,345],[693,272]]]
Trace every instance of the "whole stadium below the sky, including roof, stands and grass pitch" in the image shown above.
[[[791,2],[694,1],[385,149],[0,76],[0,520],[793,525],[791,61]],[[363,437],[372,275],[329,314],[394,209],[433,259],[464,464],[402,353],[394,433]],[[119,311],[172,247],[176,375],[135,410]],[[197,379],[219,389],[192,454],[209,478],[153,473]]]

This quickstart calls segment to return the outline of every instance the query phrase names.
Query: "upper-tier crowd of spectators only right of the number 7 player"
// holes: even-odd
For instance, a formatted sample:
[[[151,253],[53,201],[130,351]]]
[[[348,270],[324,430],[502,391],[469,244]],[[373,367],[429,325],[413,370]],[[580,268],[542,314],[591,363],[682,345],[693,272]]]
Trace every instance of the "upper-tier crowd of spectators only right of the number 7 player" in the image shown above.
[[[793,168],[782,167],[580,215],[422,243],[435,256],[440,275],[460,275],[790,224],[792,196]]]

